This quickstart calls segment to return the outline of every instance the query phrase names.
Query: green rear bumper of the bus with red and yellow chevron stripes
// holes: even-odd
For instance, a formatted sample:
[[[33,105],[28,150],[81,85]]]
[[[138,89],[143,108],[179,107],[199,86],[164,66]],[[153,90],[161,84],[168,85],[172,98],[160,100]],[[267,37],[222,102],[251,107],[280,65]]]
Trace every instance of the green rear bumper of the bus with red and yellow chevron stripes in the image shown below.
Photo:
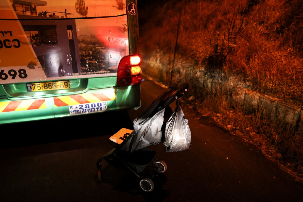
[[[0,98],[0,124],[137,109],[140,106],[140,84],[92,89],[78,95],[22,100]]]

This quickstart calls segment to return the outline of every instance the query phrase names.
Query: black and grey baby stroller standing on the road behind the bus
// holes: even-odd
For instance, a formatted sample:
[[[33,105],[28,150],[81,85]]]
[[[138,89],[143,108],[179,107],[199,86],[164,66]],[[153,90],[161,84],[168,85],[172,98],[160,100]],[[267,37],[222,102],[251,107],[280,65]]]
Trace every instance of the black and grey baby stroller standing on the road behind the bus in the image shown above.
[[[114,147],[97,161],[98,181],[102,181],[101,161],[118,160],[131,170],[139,179],[140,188],[145,192],[154,189],[152,178],[158,173],[164,173],[167,166],[164,161],[156,160],[156,152],[148,150],[146,147],[163,142],[165,124],[172,114],[170,104],[184,95],[188,89],[188,84],[184,83],[178,89],[170,90],[158,96],[145,111],[134,120],[134,129],[122,128],[113,136],[110,143]],[[152,165],[156,172],[150,176],[145,176],[143,171]]]

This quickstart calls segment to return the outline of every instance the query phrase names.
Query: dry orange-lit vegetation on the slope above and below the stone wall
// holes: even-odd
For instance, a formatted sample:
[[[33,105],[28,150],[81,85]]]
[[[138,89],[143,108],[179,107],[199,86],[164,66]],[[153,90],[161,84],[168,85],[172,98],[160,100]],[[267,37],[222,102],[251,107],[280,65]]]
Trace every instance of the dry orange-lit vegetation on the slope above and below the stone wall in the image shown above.
[[[281,169],[302,181],[302,130],[267,120],[261,108],[248,113],[229,100],[228,89],[221,86],[210,92],[200,87],[198,79],[190,78],[199,72],[223,82],[237,78],[255,92],[303,109],[302,1],[157,3],[147,4],[147,10],[139,13],[143,64],[149,61],[143,72],[166,86],[178,85],[178,81],[190,83],[195,99],[189,100],[201,115],[213,117],[231,133],[258,146]],[[178,57],[195,65],[178,64]]]

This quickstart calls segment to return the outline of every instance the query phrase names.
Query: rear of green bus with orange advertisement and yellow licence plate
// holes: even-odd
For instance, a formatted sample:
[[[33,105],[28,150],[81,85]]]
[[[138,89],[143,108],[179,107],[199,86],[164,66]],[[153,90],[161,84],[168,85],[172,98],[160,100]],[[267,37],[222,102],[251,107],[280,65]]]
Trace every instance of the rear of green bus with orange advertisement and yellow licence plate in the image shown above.
[[[136,0],[1,0],[0,124],[137,109]]]

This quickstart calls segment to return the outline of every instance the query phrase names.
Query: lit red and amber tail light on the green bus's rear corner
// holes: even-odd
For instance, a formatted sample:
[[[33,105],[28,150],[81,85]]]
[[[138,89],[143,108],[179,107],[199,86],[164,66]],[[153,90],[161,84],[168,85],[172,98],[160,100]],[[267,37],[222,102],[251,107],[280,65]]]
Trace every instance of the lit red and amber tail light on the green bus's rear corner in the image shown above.
[[[131,86],[141,83],[140,62],[140,55],[122,58],[118,66],[117,86]]]

